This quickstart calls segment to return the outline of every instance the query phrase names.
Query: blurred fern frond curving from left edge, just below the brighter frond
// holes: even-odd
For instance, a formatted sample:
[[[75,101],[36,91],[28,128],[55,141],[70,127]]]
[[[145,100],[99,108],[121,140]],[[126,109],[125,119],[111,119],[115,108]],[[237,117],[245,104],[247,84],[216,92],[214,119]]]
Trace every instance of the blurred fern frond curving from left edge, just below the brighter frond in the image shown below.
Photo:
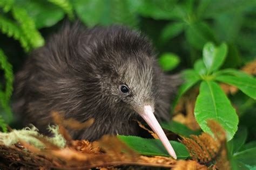
[[[26,52],[29,51],[30,45],[28,40],[23,34],[23,31],[18,27],[18,25],[12,20],[0,16],[0,30],[2,33],[7,34],[8,37],[13,37],[15,40],[18,40]]]

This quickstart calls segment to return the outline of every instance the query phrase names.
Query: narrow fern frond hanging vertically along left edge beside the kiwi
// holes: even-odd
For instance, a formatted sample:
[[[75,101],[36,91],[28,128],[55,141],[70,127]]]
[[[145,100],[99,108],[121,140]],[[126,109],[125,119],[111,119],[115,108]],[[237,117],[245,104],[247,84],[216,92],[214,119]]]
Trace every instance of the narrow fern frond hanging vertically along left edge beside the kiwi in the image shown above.
[[[0,49],[0,69],[4,70],[4,78],[6,80],[4,91],[0,90],[0,104],[4,111],[8,115],[9,121],[12,119],[12,112],[10,109],[10,98],[12,94],[12,83],[14,82],[14,73],[12,72],[12,66],[8,62],[4,52]]]

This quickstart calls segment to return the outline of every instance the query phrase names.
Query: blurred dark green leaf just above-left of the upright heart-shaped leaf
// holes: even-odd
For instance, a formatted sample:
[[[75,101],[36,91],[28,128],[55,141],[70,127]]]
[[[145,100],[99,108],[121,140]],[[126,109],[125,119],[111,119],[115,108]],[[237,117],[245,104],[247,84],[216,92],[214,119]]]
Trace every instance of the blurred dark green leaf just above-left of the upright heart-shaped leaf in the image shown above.
[[[204,22],[192,23],[188,25],[185,33],[190,45],[200,51],[203,49],[203,46],[206,44],[206,42],[215,42],[212,28]]]

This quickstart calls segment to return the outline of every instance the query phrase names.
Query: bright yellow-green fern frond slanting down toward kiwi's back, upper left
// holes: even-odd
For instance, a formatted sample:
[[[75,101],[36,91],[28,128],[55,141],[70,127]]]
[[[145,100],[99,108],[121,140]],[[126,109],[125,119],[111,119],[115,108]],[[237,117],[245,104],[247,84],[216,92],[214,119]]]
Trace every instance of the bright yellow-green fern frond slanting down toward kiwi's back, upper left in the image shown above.
[[[21,26],[21,30],[32,48],[44,45],[44,38],[36,29],[35,22],[33,22],[33,19],[29,17],[25,9],[14,7],[12,8],[12,15]]]

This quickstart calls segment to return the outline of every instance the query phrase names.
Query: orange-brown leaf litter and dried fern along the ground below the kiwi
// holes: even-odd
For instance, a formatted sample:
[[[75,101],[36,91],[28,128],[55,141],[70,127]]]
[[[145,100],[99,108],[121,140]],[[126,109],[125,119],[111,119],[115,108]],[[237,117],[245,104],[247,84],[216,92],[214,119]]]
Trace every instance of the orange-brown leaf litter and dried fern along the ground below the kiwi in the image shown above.
[[[114,167],[133,165],[173,169],[207,169],[206,165],[215,161],[216,164],[212,163],[209,169],[229,168],[225,150],[225,133],[213,121],[209,122],[209,126],[215,139],[210,134],[202,133],[200,136],[191,136],[191,138],[181,140],[181,143],[185,144],[190,151],[193,160],[140,155],[115,136],[104,136],[94,142],[72,140],[63,125],[59,126],[60,133],[66,140],[69,140],[64,148],[55,146],[43,137],[37,137],[45,145],[45,148],[41,150],[24,141],[11,146],[0,143],[0,162],[2,162],[0,167],[3,169],[114,169]]]

